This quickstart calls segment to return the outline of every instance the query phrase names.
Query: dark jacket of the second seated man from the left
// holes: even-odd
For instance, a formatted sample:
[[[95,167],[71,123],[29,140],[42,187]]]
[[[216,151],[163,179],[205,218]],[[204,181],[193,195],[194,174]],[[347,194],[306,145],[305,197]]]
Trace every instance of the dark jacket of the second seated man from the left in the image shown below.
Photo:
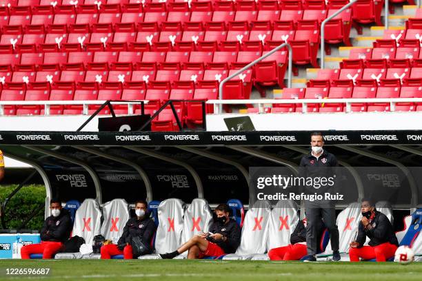
[[[130,243],[132,242],[132,238],[137,236],[141,236],[143,242],[150,243],[154,232],[155,224],[148,215],[144,216],[141,220],[138,220],[138,217],[135,216],[126,222],[117,244]]]

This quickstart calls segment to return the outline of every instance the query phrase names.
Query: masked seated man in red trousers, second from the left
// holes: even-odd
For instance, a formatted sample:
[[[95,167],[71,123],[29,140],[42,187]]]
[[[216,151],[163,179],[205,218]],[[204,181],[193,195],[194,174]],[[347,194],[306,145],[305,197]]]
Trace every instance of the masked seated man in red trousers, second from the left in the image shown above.
[[[150,244],[155,231],[155,224],[146,214],[148,203],[145,200],[135,202],[135,216],[126,222],[123,233],[117,244],[107,244],[101,247],[101,258],[110,259],[111,256],[123,255],[124,259],[137,258],[133,256],[132,238],[141,236],[141,240],[145,244]]]

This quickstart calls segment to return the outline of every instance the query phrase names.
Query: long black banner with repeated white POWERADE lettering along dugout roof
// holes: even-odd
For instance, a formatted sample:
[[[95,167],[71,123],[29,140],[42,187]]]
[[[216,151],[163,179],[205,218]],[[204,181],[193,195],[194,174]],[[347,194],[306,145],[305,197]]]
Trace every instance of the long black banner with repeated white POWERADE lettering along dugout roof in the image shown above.
[[[0,132],[0,145],[309,145],[306,131]],[[328,131],[326,145],[421,145],[422,131]]]

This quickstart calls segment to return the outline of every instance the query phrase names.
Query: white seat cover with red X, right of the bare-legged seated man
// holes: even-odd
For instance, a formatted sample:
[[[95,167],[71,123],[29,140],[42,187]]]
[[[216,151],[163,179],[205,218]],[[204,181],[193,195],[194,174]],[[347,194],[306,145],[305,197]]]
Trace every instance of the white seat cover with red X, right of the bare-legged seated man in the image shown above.
[[[271,205],[266,200],[258,200],[246,212],[242,227],[241,244],[236,254],[240,256],[267,251],[268,225],[270,225]]]

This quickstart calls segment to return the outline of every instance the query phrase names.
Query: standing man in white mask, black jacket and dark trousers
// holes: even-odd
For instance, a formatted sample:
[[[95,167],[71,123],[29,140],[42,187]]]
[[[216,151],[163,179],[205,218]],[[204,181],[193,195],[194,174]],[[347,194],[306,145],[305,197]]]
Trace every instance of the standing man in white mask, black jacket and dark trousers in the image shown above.
[[[311,134],[311,152],[301,159],[301,174],[311,178],[334,178],[332,167],[337,167],[336,156],[323,149],[324,138],[319,132]],[[324,194],[330,191],[328,187],[307,187],[310,194]],[[336,210],[332,200],[305,200],[305,212],[308,226],[306,227],[306,244],[308,246],[308,257],[305,262],[316,261],[316,249],[318,247],[317,226],[324,221],[325,226],[330,231],[330,241],[332,248],[332,260],[339,261],[339,229],[336,225]]]

